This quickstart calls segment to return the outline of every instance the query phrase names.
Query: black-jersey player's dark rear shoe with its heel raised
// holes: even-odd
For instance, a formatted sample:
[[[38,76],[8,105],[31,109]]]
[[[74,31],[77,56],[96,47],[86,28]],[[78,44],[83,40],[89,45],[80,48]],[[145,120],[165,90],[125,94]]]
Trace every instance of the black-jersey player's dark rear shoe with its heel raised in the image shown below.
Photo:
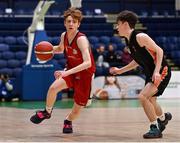
[[[168,124],[168,121],[170,121],[171,119],[172,119],[172,115],[169,112],[165,113],[165,120],[164,121],[161,121],[159,118],[157,119],[158,127],[159,127],[161,132],[163,132],[165,130],[166,125]]]

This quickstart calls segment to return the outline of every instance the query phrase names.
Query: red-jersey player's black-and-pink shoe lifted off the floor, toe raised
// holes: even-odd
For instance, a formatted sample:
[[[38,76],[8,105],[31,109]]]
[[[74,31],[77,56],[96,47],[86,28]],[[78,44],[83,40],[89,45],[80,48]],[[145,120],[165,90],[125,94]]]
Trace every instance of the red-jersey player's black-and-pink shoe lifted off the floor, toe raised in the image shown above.
[[[34,124],[41,123],[44,119],[49,119],[51,117],[51,114],[48,113],[46,110],[44,111],[36,111],[36,114],[33,115],[30,120]]]

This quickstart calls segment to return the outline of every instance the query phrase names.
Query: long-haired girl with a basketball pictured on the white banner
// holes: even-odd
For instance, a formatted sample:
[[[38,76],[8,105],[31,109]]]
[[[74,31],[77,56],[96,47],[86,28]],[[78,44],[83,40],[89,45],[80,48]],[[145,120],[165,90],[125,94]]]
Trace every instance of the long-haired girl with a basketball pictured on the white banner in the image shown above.
[[[95,91],[95,98],[107,100],[107,99],[124,99],[127,95],[125,91],[125,86],[123,85],[123,92],[121,85],[118,82],[116,76],[105,76],[104,86],[101,89]]]

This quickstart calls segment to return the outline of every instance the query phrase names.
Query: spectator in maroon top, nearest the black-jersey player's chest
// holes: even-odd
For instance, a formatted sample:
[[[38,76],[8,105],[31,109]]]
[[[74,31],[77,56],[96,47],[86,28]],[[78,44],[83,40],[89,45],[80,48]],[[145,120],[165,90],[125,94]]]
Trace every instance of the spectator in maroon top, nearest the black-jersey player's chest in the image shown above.
[[[132,58],[129,54],[128,47],[124,47],[123,53],[122,53],[122,64],[127,65],[132,61]]]

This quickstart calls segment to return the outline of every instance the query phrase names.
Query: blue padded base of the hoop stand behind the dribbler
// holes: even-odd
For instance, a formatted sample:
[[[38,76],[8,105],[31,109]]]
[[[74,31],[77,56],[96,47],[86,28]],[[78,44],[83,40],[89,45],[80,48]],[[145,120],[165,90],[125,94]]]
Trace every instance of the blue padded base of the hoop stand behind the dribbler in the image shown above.
[[[36,31],[33,47],[41,42],[47,41],[46,31]],[[34,49],[32,50],[31,62],[23,67],[21,78],[21,97],[22,101],[45,101],[47,91],[53,83],[54,71],[57,69],[52,61],[44,64],[38,63],[36,60]],[[61,99],[61,93],[57,99]]]

